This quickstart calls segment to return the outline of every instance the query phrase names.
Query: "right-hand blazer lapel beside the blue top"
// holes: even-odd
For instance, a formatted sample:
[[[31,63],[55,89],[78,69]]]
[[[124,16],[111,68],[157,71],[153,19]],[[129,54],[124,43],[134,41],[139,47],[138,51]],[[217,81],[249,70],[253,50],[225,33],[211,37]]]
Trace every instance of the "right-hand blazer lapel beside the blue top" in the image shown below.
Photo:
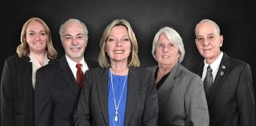
[[[134,113],[134,108],[137,104],[137,95],[139,92],[141,73],[135,72],[135,69],[129,68],[128,74],[128,87],[127,87],[127,98],[126,98],[126,115],[125,115],[125,126],[129,125],[130,119]]]

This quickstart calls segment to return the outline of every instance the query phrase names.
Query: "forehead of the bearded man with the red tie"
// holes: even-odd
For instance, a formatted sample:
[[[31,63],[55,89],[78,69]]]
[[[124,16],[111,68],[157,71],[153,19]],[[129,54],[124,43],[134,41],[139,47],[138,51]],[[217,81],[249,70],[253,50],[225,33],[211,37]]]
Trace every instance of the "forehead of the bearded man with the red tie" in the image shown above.
[[[77,22],[71,22],[63,27],[63,35],[83,34],[83,26]]]

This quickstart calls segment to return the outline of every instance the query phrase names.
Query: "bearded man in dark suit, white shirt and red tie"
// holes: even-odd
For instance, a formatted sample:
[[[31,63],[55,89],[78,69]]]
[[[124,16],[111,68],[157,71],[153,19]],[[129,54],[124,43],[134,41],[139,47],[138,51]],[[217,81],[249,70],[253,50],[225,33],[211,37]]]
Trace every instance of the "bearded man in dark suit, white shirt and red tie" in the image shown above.
[[[73,111],[81,91],[76,65],[81,65],[83,73],[97,65],[84,58],[88,42],[85,24],[67,20],[59,34],[66,54],[36,72],[36,126],[73,126]]]

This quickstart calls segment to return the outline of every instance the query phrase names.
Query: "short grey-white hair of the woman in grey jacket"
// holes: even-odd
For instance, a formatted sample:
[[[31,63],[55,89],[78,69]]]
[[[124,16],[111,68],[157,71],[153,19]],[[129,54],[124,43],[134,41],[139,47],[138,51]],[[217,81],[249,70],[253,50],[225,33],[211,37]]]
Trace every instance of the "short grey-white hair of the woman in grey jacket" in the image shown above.
[[[158,39],[162,34],[167,35],[168,39],[171,40],[171,43],[175,43],[178,46],[178,50],[180,54],[180,57],[178,60],[179,62],[182,62],[185,56],[183,39],[180,37],[179,33],[175,31],[175,29],[169,28],[169,27],[160,28],[160,30],[157,31],[152,43],[152,56],[156,59],[156,44],[158,43]]]

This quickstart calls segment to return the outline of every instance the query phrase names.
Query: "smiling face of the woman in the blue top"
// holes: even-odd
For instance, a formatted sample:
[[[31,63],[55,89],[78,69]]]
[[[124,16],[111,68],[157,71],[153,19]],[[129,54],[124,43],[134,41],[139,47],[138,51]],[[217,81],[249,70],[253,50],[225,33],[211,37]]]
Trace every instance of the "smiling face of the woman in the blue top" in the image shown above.
[[[106,52],[110,57],[111,64],[116,61],[127,64],[130,47],[131,43],[127,29],[122,25],[112,28],[106,42]]]

